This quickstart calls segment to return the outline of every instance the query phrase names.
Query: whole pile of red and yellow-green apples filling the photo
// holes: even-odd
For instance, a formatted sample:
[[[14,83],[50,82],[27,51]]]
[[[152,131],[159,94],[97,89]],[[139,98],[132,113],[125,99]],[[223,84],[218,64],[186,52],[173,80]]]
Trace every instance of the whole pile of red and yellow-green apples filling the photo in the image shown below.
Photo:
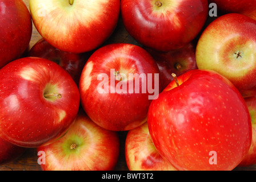
[[[130,170],[256,164],[255,1],[0,0],[0,13],[0,163],[37,148],[43,170],[113,170],[127,131]],[[119,19],[137,45],[104,45]],[[28,48],[33,23],[43,39]]]

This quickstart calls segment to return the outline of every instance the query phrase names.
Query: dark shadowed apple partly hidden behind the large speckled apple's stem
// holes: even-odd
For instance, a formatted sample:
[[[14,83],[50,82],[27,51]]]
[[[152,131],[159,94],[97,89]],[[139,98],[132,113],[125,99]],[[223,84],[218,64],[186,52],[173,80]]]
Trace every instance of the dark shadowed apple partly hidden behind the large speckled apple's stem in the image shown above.
[[[196,44],[194,42],[191,42],[180,49],[168,52],[145,48],[157,62],[160,71],[162,89],[165,89],[166,86],[173,81],[171,73],[175,73],[175,75],[180,76],[192,69],[198,69],[197,62],[195,61],[195,48]]]

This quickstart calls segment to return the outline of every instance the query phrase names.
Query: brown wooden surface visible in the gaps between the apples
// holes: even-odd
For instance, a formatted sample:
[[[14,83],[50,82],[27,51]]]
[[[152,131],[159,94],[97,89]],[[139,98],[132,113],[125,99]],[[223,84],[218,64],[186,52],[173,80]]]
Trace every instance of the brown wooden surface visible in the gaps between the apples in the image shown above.
[[[29,7],[29,0],[23,0],[27,7]],[[41,39],[41,35],[38,34],[37,30],[33,25],[33,34],[31,37],[30,48]],[[119,18],[117,28],[113,32],[113,35],[103,44],[110,43],[131,43],[140,46],[125,30],[122,24],[122,19]],[[103,46],[102,45],[102,46]],[[121,152],[119,155],[119,162],[115,167],[115,170],[125,171],[128,170],[125,162],[125,138],[127,131],[118,132],[120,142],[121,142]],[[237,167],[234,170],[237,171],[256,171],[256,164],[249,167]],[[25,153],[21,155],[18,159],[13,160],[9,163],[0,165],[0,171],[41,171],[41,167],[37,163],[37,148],[27,148]]]

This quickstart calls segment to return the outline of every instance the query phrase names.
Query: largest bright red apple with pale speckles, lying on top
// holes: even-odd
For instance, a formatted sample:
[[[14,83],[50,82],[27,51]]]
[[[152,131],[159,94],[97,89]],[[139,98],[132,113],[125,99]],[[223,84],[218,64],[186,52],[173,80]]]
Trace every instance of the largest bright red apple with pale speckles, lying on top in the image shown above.
[[[149,107],[149,131],[159,154],[178,170],[237,167],[252,136],[249,110],[237,88],[210,70],[186,72],[178,82]],[[217,164],[210,164],[210,151]]]

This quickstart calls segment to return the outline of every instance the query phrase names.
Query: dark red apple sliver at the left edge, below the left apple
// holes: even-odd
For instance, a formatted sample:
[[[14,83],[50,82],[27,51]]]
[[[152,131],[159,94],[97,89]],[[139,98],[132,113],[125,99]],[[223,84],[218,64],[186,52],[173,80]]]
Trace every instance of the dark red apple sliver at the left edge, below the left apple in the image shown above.
[[[5,164],[17,159],[25,152],[26,148],[16,146],[0,138],[0,164]]]

